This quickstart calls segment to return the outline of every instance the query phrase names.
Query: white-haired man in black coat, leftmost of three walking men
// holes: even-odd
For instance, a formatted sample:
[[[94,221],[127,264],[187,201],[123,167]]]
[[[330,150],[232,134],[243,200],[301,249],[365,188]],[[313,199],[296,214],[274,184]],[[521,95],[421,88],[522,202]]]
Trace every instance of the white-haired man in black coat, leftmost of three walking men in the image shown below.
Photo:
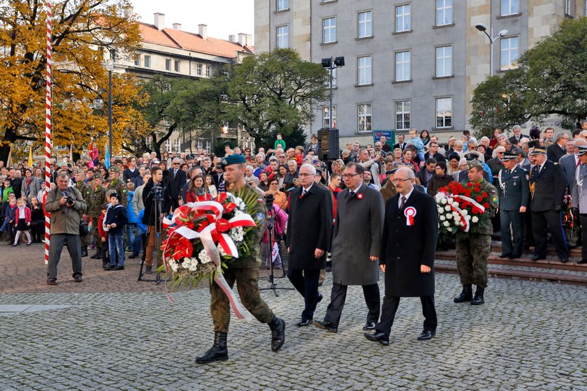
[[[305,307],[298,326],[308,326],[314,318],[321,269],[326,269],[326,250],[332,233],[332,198],[327,189],[314,183],[316,168],[305,163],[300,167],[300,186],[293,189],[287,220],[287,278],[302,295]]]

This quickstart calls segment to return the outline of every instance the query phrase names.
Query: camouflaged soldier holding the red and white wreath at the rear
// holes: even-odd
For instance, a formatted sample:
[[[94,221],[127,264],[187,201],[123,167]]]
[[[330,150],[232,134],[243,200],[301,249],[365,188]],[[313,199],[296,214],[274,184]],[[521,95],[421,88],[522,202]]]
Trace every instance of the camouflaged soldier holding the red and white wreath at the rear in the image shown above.
[[[456,233],[456,266],[461,277],[463,292],[454,298],[454,302],[471,302],[479,305],[485,302],[484,291],[487,286],[487,257],[491,253],[491,234],[493,224],[491,218],[498,209],[498,191],[483,178],[483,165],[479,161],[469,163],[469,181],[489,195],[489,207],[485,209],[484,219],[471,223],[468,233],[459,230]],[[463,181],[467,186],[468,181]],[[477,286],[472,295],[472,284]]]

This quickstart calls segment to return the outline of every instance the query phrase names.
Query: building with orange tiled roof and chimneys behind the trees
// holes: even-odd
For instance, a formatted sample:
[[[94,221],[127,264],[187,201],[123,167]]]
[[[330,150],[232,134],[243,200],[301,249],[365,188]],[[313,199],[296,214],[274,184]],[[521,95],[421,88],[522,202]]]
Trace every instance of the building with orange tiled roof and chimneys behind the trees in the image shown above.
[[[131,57],[115,60],[115,71],[130,72],[148,80],[154,75],[171,78],[210,78],[224,64],[240,64],[243,58],[254,53],[252,36],[238,34],[228,40],[208,36],[207,26],[198,25],[198,32],[182,31],[181,24],[165,27],[165,15],[154,14],[154,24],[140,23],[140,46]],[[112,56],[111,56],[112,57]],[[166,126],[166,124],[161,124]],[[236,138],[238,145],[254,143],[242,129],[229,128],[219,138]],[[149,142],[149,140],[147,140]],[[203,149],[210,152],[212,140],[203,137],[197,129],[182,129],[174,133],[165,144],[168,152],[185,152]]]

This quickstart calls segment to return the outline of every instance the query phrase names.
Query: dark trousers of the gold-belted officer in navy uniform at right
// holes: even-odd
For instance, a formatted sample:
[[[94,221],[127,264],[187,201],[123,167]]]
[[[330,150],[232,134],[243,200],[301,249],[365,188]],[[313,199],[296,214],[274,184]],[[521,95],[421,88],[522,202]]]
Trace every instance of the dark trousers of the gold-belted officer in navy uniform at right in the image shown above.
[[[554,209],[544,212],[532,211],[532,233],[534,233],[534,255],[539,258],[546,258],[546,240],[548,239],[549,228],[551,230],[552,242],[558,258],[569,258],[567,238],[563,230],[561,212],[554,212]]]

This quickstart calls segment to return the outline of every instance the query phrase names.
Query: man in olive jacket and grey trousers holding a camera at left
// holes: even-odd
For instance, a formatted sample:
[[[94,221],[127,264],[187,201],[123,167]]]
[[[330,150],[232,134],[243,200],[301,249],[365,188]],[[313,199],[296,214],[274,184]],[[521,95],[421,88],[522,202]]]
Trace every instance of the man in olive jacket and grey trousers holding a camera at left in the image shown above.
[[[71,257],[73,279],[75,282],[82,282],[80,220],[86,209],[87,205],[80,191],[69,186],[69,175],[65,172],[59,173],[57,187],[47,193],[45,201],[45,212],[51,214],[48,285],[57,285],[57,264],[64,245]]]

